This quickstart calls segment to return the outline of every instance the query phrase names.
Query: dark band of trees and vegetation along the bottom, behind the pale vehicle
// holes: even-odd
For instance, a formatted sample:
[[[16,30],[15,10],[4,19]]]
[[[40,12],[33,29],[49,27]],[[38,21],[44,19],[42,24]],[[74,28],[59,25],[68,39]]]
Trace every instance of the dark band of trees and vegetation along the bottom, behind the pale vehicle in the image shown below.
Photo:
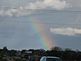
[[[81,51],[71,50],[69,48],[62,49],[60,47],[53,47],[51,50],[44,49],[29,49],[29,50],[8,50],[7,47],[0,49],[0,61],[34,61],[42,56],[56,56],[63,61],[81,61]]]

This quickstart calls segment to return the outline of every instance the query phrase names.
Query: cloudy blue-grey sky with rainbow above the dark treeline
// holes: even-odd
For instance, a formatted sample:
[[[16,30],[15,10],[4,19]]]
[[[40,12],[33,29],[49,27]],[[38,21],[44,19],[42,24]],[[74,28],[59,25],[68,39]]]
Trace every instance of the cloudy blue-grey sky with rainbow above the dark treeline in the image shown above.
[[[80,45],[81,0],[0,0],[0,48]]]

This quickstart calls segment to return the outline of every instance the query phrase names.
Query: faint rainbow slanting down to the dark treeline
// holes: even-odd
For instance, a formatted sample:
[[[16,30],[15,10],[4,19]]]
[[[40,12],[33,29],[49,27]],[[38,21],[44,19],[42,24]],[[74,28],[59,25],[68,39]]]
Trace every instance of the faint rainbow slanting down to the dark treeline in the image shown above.
[[[50,38],[49,35],[45,32],[44,24],[40,24],[41,22],[35,17],[31,17],[31,19],[32,19],[32,27],[34,28],[34,31],[38,33],[41,45],[43,45],[44,48],[47,50],[54,47],[55,43],[53,44],[52,38]]]

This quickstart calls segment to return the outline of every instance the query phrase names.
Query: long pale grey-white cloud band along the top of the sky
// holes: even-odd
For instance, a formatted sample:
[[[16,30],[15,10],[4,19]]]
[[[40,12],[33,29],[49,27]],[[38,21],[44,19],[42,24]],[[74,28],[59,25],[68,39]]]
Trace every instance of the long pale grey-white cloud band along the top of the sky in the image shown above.
[[[31,14],[37,9],[63,10],[67,7],[69,7],[69,4],[64,0],[38,0],[17,8],[8,8],[6,10],[2,8],[0,9],[0,16],[23,16]]]

